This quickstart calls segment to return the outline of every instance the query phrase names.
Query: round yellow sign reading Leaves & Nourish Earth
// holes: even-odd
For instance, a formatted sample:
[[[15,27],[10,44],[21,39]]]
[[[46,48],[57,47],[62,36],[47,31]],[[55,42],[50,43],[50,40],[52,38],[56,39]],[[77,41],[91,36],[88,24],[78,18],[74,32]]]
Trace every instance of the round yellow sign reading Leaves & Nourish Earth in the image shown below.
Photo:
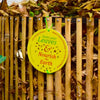
[[[28,57],[32,65],[43,73],[58,71],[68,57],[68,46],[63,36],[50,29],[33,34],[28,43]]]

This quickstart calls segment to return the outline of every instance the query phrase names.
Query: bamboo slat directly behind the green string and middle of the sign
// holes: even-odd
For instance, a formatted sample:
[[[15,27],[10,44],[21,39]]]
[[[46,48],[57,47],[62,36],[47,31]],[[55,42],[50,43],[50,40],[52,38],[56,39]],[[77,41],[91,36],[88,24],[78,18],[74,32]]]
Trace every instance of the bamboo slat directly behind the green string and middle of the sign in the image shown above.
[[[52,18],[47,18],[48,28],[52,26]],[[53,100],[53,74],[47,74],[47,100]]]

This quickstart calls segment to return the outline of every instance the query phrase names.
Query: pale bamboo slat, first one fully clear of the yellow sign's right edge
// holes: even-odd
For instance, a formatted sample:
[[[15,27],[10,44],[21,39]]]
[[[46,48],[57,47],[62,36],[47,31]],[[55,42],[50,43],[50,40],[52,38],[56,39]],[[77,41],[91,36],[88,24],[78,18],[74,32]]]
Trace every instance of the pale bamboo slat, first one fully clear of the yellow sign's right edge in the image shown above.
[[[77,100],[82,100],[82,19],[77,18],[76,24]]]

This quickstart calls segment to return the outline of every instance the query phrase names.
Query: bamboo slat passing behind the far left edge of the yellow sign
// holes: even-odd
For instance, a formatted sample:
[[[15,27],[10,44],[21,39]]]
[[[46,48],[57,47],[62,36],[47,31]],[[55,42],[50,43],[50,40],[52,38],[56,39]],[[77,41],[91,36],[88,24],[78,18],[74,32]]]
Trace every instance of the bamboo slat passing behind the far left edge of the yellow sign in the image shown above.
[[[33,17],[29,17],[29,39],[33,33]],[[30,100],[33,100],[33,70],[32,65],[29,63],[29,81],[30,81]]]

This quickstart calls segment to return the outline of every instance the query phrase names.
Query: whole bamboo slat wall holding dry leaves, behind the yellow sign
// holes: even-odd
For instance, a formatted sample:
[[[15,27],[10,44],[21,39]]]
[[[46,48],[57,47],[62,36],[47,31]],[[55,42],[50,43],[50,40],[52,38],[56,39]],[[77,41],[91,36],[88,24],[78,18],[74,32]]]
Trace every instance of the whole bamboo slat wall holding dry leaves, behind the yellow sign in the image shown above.
[[[34,20],[35,19],[35,20]],[[55,21],[53,21],[53,19]],[[71,18],[46,18],[47,26],[52,27],[63,35],[62,22],[65,23],[64,38],[68,44],[68,59],[65,66],[53,74],[43,74],[35,70],[27,57],[27,43],[36,30],[45,28],[43,18],[33,17],[0,17],[0,55],[7,59],[0,66],[0,100],[71,100],[72,98],[72,58],[71,58]],[[93,100],[93,38],[94,19],[86,19],[86,100]],[[37,29],[34,30],[37,25]],[[83,98],[82,87],[82,18],[76,19],[76,87],[77,100]],[[98,20],[98,100],[100,100],[100,20]],[[21,51],[22,58],[18,51]],[[62,77],[63,76],[63,77]],[[37,89],[34,89],[33,78],[37,78]],[[65,81],[63,82],[62,79]],[[64,90],[63,90],[64,87]],[[28,91],[28,92],[27,92]]]

